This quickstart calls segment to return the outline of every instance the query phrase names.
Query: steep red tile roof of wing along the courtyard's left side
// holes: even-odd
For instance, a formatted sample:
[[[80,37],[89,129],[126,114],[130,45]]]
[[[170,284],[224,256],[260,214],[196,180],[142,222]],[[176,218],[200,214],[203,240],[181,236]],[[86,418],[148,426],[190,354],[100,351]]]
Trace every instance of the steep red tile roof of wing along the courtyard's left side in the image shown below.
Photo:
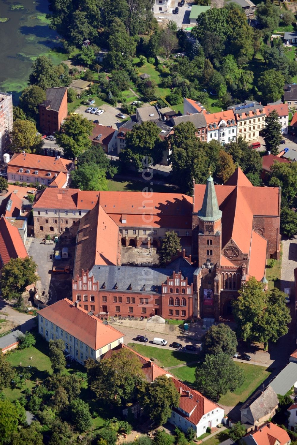
[[[118,226],[99,204],[79,221],[73,276],[95,264],[118,264]]]

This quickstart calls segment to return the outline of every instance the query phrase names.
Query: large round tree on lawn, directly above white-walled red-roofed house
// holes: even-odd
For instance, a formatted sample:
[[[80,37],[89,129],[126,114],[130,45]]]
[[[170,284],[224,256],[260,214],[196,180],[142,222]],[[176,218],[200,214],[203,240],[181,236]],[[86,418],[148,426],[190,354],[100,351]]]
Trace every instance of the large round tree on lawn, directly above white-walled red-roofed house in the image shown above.
[[[235,391],[243,384],[241,368],[227,354],[205,356],[204,362],[196,368],[195,388],[203,396],[219,401],[227,391]]]

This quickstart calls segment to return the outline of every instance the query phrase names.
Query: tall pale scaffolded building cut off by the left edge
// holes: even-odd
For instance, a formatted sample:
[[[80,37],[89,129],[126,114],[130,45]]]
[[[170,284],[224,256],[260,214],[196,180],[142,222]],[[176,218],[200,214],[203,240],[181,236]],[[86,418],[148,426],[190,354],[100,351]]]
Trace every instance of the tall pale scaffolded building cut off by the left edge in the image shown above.
[[[0,158],[10,144],[9,134],[13,127],[12,94],[0,91]]]

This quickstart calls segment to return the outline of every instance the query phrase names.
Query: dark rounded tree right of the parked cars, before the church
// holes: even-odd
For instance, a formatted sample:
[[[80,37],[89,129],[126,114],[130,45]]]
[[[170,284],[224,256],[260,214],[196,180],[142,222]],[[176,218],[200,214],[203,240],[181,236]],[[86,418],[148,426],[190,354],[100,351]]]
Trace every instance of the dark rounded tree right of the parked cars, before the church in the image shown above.
[[[220,354],[234,356],[237,348],[236,333],[227,324],[213,324],[202,339],[204,354]]]

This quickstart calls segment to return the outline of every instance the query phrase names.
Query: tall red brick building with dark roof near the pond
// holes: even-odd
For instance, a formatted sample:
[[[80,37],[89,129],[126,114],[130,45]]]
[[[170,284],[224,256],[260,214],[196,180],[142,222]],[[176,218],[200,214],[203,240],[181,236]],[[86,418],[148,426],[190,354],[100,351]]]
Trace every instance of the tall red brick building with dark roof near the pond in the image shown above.
[[[46,100],[39,105],[39,125],[42,133],[52,135],[59,132],[67,114],[67,88],[47,88]]]

